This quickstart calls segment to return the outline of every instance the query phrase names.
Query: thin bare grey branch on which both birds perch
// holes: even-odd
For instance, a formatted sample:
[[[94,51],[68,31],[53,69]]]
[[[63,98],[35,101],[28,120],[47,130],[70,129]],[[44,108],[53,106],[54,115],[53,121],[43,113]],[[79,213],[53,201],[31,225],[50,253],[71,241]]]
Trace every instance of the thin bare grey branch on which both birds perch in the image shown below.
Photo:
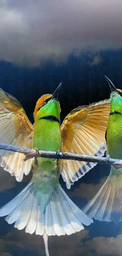
[[[122,160],[114,159],[114,158],[88,156],[88,155],[74,154],[74,153],[67,153],[67,152],[57,153],[54,151],[45,151],[45,150],[38,151],[34,149],[18,147],[14,145],[5,144],[5,143],[0,143],[0,149],[23,153],[25,155],[25,158],[24,158],[25,161],[33,157],[35,158],[46,157],[46,158],[69,159],[69,160],[77,160],[77,161],[84,161],[84,162],[110,164],[110,165],[114,165],[115,168],[122,168]]]

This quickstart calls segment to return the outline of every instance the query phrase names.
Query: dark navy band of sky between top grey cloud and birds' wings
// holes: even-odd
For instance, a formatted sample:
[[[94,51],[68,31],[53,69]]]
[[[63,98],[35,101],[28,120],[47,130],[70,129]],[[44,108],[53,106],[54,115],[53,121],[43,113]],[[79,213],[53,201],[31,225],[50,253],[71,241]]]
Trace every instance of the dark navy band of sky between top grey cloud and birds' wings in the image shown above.
[[[99,52],[95,55],[70,55],[66,63],[48,61],[40,67],[19,67],[0,61],[0,87],[15,96],[32,119],[36,101],[45,93],[53,93],[60,82],[61,119],[75,107],[109,98],[110,88],[104,75],[117,88],[122,88],[122,50]],[[93,64],[92,64],[93,63]]]

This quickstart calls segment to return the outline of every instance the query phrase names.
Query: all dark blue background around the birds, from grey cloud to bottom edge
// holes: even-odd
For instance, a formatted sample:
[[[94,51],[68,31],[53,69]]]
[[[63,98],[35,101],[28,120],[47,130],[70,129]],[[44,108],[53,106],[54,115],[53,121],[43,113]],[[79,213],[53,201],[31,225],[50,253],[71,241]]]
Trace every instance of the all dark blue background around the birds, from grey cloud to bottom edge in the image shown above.
[[[53,93],[60,82],[61,122],[74,108],[107,99],[110,88],[104,75],[122,89],[122,50],[99,52],[100,62],[94,64],[93,54],[68,57],[66,63],[48,61],[37,68],[19,67],[12,63],[0,62],[0,87],[15,96],[33,123],[36,101],[45,93]],[[7,203],[31,179],[24,176],[21,183],[4,170],[0,170],[0,206]],[[110,168],[98,164],[82,179],[75,182],[70,190],[60,177],[60,183],[71,199],[82,208],[102,186]],[[0,218],[0,256],[43,256],[45,248],[42,237],[19,231]],[[71,236],[49,237],[51,256],[118,256],[121,255],[122,223],[99,222],[94,220],[87,229]]]

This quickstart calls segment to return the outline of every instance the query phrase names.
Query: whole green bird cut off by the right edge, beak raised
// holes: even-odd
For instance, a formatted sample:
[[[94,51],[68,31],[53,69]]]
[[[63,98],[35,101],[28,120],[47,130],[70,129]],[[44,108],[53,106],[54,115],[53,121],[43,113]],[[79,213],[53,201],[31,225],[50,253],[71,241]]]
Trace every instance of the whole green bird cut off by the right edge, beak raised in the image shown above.
[[[107,157],[122,159],[122,90],[116,89],[106,77],[110,88],[110,115],[107,123]],[[111,166],[106,182],[82,209],[100,221],[122,221],[122,168]],[[117,169],[119,168],[119,169]]]

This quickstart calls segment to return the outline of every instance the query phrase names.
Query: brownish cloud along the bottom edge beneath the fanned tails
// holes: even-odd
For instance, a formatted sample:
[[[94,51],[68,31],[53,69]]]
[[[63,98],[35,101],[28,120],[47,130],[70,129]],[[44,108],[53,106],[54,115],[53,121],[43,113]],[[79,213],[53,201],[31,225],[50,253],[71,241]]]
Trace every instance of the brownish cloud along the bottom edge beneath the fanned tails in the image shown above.
[[[84,229],[70,236],[51,236],[48,238],[48,247],[50,255],[54,256],[121,256],[122,234],[117,237],[94,237],[89,238],[88,230]],[[23,248],[24,250],[35,251],[39,255],[45,255],[45,247],[42,236],[30,235],[24,230],[13,229],[0,240],[0,253],[5,253],[7,248]],[[0,254],[4,256],[4,254]],[[5,254],[5,256],[9,256]]]

